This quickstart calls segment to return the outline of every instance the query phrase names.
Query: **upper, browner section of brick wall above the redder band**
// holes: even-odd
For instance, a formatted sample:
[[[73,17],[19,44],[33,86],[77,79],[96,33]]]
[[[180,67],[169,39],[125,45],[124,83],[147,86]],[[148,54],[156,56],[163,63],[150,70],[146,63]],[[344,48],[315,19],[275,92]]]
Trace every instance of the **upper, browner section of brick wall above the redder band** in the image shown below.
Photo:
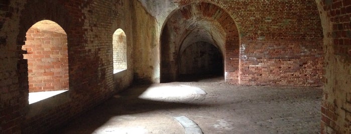
[[[309,39],[322,37],[315,0],[174,0],[186,5],[204,1],[228,12],[245,38]],[[215,1],[215,2],[212,2]],[[207,13],[217,9],[205,7]]]

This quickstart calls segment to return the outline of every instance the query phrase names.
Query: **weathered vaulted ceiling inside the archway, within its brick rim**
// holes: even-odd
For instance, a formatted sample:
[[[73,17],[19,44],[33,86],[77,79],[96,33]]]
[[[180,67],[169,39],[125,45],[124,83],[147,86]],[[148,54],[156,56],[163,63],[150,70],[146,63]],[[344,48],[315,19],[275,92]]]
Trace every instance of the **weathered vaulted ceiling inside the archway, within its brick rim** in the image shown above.
[[[207,14],[198,4],[190,4],[177,10],[169,19],[167,25],[175,32],[175,45],[179,52],[189,45],[205,41],[224,50],[225,32],[216,21],[214,14]]]

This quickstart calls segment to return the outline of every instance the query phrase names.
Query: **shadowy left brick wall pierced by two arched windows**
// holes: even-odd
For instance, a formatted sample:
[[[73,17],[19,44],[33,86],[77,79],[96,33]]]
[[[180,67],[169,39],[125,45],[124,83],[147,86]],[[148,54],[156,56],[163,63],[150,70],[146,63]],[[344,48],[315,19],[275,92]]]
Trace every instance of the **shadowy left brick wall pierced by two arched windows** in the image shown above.
[[[6,114],[2,112],[0,115],[2,120],[0,121],[0,133],[45,132],[62,124],[72,116],[95,106],[111,96],[116,90],[126,88],[132,82],[133,64],[129,64],[131,69],[127,70],[127,73],[113,74],[111,60],[113,33],[111,33],[111,28],[114,30],[123,28],[128,37],[128,47],[126,47],[128,62],[133,62],[131,58],[133,49],[131,25],[133,21],[130,17],[130,10],[133,6],[131,6],[131,1],[123,0],[124,4],[113,0],[74,2],[72,0],[5,1],[8,1],[9,4],[3,5],[1,3],[0,8],[0,12],[8,14],[3,16],[4,13],[0,13],[0,18],[4,18],[0,19],[0,29],[2,29],[0,38],[6,38],[6,44],[4,44],[6,47],[0,44],[0,61],[2,62],[0,74],[13,72],[16,75],[4,76],[6,78],[13,77],[9,80],[9,84],[5,84],[7,83],[5,81],[0,82],[0,98],[2,98],[0,106],[4,106],[1,109],[15,110],[8,110],[4,112]],[[5,9],[3,7],[12,8],[12,10],[3,10]],[[13,8],[16,8],[17,11],[14,11]],[[96,11],[95,14],[88,11],[91,9]],[[11,18],[9,14],[11,14]],[[100,19],[96,19],[97,17],[100,17]],[[59,28],[46,27],[46,31],[40,30],[43,27],[30,28],[43,18],[58,23],[60,26],[57,27]],[[62,29],[67,35],[64,34]],[[66,47],[54,48],[53,46],[58,43],[65,44]],[[18,52],[16,52],[16,48]],[[25,56],[23,56],[25,52],[22,48],[28,51],[27,54],[24,54]],[[70,55],[70,57],[63,58],[63,55]],[[7,57],[7,59],[4,57]],[[43,60],[47,62],[40,64]],[[67,63],[63,63],[69,60],[69,66]],[[64,69],[58,70],[63,68],[64,65],[66,65]],[[33,78],[33,75],[38,77]],[[4,77],[0,76],[0,79]],[[69,83],[68,79],[73,83]],[[118,79],[124,80],[117,83]],[[29,90],[53,90],[68,87],[73,89],[70,90],[71,100],[60,105],[54,105],[54,109],[36,111],[36,115],[33,116],[27,115],[29,114],[27,108],[31,108],[28,104]],[[11,93],[10,88],[18,93]],[[79,92],[88,94],[82,95]],[[21,100],[18,101],[20,98]],[[25,116],[27,117],[24,118]],[[10,121],[13,123],[7,123]],[[9,127],[3,127],[5,125]]]

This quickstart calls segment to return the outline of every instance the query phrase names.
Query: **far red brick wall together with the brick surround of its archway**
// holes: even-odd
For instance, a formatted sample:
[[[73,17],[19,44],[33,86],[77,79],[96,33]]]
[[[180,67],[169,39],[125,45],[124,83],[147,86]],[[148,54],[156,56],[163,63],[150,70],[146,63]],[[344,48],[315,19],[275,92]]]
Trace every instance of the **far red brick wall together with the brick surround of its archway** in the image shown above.
[[[147,11],[163,24],[163,27],[156,27],[156,31],[161,32],[159,44],[161,82],[173,81],[177,78],[177,49],[179,48],[177,42],[183,41],[182,36],[186,33],[182,33],[184,30],[182,28],[187,27],[186,23],[180,21],[194,20],[193,15],[201,16],[201,13],[196,14],[192,11],[194,8],[188,8],[199,5],[199,12],[204,12],[203,15],[208,18],[196,17],[196,20],[212,21],[207,27],[219,23],[220,26],[217,29],[223,29],[220,33],[225,33],[223,51],[226,55],[225,79],[227,82],[245,85],[322,85],[323,34],[315,0],[173,1],[175,5],[143,2]],[[157,10],[152,8],[153,6],[157,6]],[[164,12],[168,12],[167,17],[163,16]],[[177,12],[181,12],[183,17],[174,16]],[[146,42],[146,44],[157,45],[158,43]],[[255,49],[241,50],[242,46]],[[280,53],[274,54],[270,52],[271,49]],[[270,53],[267,54],[267,52]],[[296,57],[296,55],[301,56]],[[151,64],[154,61],[152,59],[155,59],[152,54],[143,55],[141,58],[151,59],[146,60]],[[272,63],[275,60],[283,62]],[[311,60],[315,62],[306,62]],[[265,65],[261,67],[258,63]],[[267,69],[266,66],[271,68]],[[147,67],[140,67],[137,70],[158,73],[157,69],[147,69]],[[148,75],[142,77],[147,78]],[[300,81],[293,82],[296,80]]]

